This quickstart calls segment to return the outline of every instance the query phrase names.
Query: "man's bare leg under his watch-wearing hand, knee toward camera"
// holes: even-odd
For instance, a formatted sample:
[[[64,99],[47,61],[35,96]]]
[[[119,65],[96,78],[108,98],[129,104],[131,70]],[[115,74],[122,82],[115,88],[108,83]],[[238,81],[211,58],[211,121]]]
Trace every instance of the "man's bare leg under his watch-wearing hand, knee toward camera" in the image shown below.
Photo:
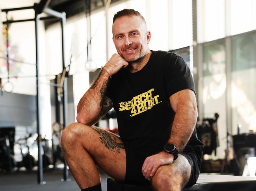
[[[189,181],[191,166],[187,158],[179,155],[171,165],[160,166],[152,177],[155,191],[181,191]]]

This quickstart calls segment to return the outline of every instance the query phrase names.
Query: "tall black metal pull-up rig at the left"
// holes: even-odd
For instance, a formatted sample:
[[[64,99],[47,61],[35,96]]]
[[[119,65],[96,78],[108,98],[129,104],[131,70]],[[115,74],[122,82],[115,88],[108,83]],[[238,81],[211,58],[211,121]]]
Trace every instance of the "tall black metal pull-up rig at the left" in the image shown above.
[[[41,0],[39,4],[34,4],[30,7],[19,7],[19,8],[12,8],[12,9],[2,9],[2,12],[6,12],[6,14],[10,11],[19,11],[19,10],[27,10],[27,9],[33,9],[35,12],[35,17],[31,19],[24,19],[24,20],[6,20],[3,22],[3,24],[11,24],[15,22],[27,22],[27,21],[33,21],[35,22],[35,67],[36,67],[36,87],[37,87],[37,94],[36,94],[36,103],[37,103],[37,146],[38,146],[38,176],[37,176],[37,182],[39,184],[45,184],[43,181],[43,156],[42,156],[42,137],[41,137],[41,124],[40,124],[40,105],[39,105],[39,97],[40,97],[40,78],[39,78],[39,62],[38,62],[38,53],[39,53],[39,45],[38,45],[38,23],[39,20],[58,20],[61,22],[61,45],[62,45],[62,67],[65,68],[65,56],[64,56],[64,25],[66,22],[66,14],[59,13],[57,11],[54,11],[52,9],[46,8],[47,3],[49,1]],[[41,17],[40,13],[46,13],[47,17]],[[67,78],[64,78],[63,82],[63,125],[64,127],[67,126]],[[68,179],[68,169],[67,164],[65,163],[64,166],[64,178],[65,181]]]

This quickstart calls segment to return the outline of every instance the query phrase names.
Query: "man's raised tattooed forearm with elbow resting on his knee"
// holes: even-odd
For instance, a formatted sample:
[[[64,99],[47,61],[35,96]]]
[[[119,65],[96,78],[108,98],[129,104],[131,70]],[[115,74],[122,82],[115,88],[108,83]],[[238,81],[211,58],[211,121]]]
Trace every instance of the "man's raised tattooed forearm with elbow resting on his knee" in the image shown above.
[[[104,95],[109,84],[109,75],[101,70],[91,87],[83,95],[77,106],[77,121],[86,125],[93,125],[100,119]],[[111,108],[110,108],[111,109]],[[108,109],[109,110],[109,109]]]

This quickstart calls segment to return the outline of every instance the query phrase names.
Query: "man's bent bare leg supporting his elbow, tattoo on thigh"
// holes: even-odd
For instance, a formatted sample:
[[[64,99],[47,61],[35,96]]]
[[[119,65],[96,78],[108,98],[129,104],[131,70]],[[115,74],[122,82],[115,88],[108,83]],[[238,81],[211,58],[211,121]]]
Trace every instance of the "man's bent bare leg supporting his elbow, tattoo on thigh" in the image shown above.
[[[63,131],[61,146],[81,189],[100,184],[96,165],[112,178],[124,181],[126,154],[122,140],[115,134],[99,127],[74,123]]]

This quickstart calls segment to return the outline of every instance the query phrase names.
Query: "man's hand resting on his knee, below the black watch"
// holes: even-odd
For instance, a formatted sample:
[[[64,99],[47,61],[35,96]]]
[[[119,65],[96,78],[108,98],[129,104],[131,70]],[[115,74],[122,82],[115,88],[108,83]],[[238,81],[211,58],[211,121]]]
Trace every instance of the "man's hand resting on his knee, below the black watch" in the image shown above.
[[[151,181],[152,176],[156,173],[157,169],[160,166],[172,164],[173,163],[173,154],[168,154],[165,151],[152,156],[148,156],[142,166],[143,176],[149,181]]]

